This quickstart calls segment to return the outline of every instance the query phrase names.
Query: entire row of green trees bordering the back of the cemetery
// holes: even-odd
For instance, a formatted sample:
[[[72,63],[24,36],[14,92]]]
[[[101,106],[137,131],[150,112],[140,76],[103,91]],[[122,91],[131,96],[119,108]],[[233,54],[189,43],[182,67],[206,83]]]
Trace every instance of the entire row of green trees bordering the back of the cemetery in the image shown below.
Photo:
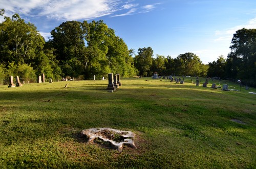
[[[0,15],[4,15],[0,10]],[[238,30],[231,40],[227,59],[202,64],[193,53],[176,58],[156,55],[152,47],[128,49],[122,38],[102,21],[66,21],[51,31],[46,41],[33,23],[18,14],[4,16],[0,23],[0,83],[9,76],[24,80],[58,80],[71,76],[79,79],[101,78],[108,73],[121,77],[184,75],[241,79],[255,85],[255,29]]]

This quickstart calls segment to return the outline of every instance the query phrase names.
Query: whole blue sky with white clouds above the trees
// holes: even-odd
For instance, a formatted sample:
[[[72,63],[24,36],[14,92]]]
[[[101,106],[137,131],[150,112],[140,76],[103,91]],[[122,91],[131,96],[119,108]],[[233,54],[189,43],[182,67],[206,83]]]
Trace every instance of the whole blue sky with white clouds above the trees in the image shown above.
[[[192,52],[203,63],[226,57],[237,30],[256,29],[255,0],[1,0],[2,8],[46,39],[63,21],[103,20],[136,54],[151,46],[154,57]]]

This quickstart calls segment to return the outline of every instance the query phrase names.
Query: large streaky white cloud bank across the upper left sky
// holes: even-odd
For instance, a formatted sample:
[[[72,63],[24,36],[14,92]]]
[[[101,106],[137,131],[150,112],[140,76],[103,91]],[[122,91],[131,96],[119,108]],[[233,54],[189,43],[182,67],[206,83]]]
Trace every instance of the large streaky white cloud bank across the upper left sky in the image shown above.
[[[125,16],[149,12],[157,4],[140,6],[136,0],[1,0],[6,13],[60,20],[93,19],[105,15]],[[129,10],[129,11],[127,11]],[[120,12],[121,11],[121,12]],[[117,12],[121,13],[118,14]]]

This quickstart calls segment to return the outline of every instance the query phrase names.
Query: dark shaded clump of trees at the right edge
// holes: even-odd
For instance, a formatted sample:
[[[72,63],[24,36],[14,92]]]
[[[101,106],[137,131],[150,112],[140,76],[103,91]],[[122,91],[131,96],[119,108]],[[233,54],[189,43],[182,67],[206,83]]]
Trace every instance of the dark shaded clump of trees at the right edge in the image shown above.
[[[224,59],[209,63],[207,76],[241,80],[244,85],[256,86],[256,29],[240,29],[233,34],[231,52]]]

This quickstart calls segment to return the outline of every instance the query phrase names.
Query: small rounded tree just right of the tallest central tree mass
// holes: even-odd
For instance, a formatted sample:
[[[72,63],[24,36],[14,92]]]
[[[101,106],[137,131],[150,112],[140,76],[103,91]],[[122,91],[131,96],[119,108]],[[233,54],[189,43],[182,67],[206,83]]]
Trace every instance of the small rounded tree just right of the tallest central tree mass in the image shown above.
[[[153,50],[151,47],[139,48],[138,55],[134,57],[134,65],[139,71],[140,76],[151,76],[150,71],[153,64]]]

